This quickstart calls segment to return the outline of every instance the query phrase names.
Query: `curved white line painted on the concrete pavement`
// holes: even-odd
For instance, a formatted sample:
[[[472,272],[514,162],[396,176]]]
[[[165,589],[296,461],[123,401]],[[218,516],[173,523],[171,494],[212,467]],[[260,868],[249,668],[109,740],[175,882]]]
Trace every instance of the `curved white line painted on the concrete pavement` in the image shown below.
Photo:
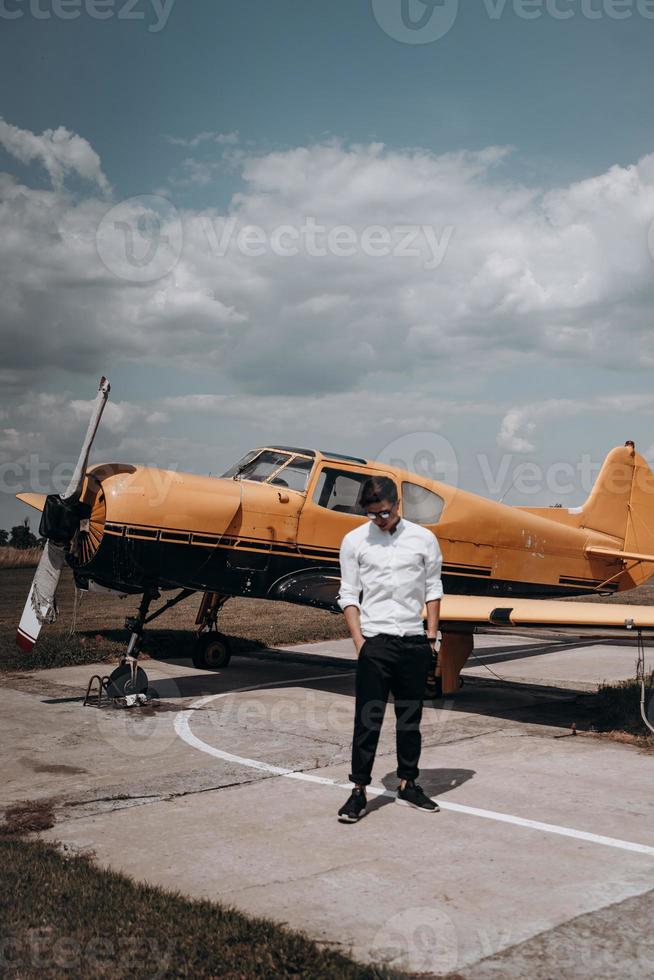
[[[224,759],[226,762],[234,762],[249,769],[258,769],[260,772],[268,772],[273,776],[285,776],[288,779],[300,779],[303,782],[319,783],[322,786],[335,786],[337,789],[351,789],[352,784],[338,783],[335,779],[327,779],[324,776],[314,776],[308,772],[298,772],[293,769],[285,769],[282,766],[273,766],[268,762],[261,762],[258,759],[248,759],[241,755],[233,755],[231,752],[224,752],[217,749],[208,742],[204,742],[197,735],[194,735],[190,727],[190,719],[198,708],[204,708],[213,701],[221,698],[228,698],[234,694],[244,694],[247,691],[262,691],[270,687],[291,687],[293,684],[306,683],[307,681],[329,680],[333,677],[347,677],[354,671],[339,671],[336,674],[314,674],[310,677],[293,677],[283,681],[272,681],[264,684],[252,684],[250,687],[241,687],[232,691],[224,691],[222,694],[209,694],[207,697],[199,698],[194,701],[189,708],[180,711],[175,716],[175,731],[179,737],[194,749],[212,755],[216,759]],[[387,789],[380,789],[376,786],[368,786],[368,793],[371,796],[395,797],[395,793]],[[462,803],[449,803],[438,801],[441,810],[452,810],[456,813],[466,813],[469,816],[481,817],[483,820],[495,820],[500,823],[514,824],[517,827],[526,827],[530,830],[540,830],[547,834],[558,834],[561,837],[573,837],[576,840],[588,841],[591,844],[601,844],[605,847],[615,847],[622,851],[635,851],[638,854],[649,854],[654,856],[654,846],[649,844],[637,844],[634,841],[620,840],[618,837],[604,837],[601,834],[591,834],[585,830],[575,830],[572,827],[560,827],[558,824],[542,823],[539,820],[527,820],[524,817],[514,817],[510,813],[498,813],[495,810],[482,810],[475,806],[465,806]]]

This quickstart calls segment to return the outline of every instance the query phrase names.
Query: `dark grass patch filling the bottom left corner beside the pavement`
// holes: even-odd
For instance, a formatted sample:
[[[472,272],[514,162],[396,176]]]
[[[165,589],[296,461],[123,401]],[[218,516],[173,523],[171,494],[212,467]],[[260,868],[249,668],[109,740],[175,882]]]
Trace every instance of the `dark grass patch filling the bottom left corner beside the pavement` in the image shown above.
[[[0,867],[6,978],[405,976],[359,965],[267,919],[138,884],[40,841],[0,837]]]

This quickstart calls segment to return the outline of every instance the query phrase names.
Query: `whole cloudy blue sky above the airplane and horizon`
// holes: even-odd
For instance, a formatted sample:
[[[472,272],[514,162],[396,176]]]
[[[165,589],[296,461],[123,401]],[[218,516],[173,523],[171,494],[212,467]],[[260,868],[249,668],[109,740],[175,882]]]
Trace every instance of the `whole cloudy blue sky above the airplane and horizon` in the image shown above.
[[[0,527],[258,445],[654,456],[654,0],[0,0]]]

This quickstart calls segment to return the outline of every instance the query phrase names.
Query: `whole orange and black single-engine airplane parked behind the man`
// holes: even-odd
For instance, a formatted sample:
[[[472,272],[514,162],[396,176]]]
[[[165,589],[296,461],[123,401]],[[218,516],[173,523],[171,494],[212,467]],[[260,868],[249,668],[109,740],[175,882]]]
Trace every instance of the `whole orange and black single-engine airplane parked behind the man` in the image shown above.
[[[114,696],[147,689],[143,629],[193,593],[202,593],[193,660],[208,670],[229,662],[217,619],[231,596],[336,610],[339,547],[366,519],[359,499],[373,475],[395,480],[403,516],[440,542],[444,694],[459,687],[477,626],[654,631],[651,607],[560,601],[624,592],[654,574],[654,474],[633,442],[611,450],[586,503],[572,509],[508,506],[384,463],[290,446],[255,449],[221,477],[87,468],[108,395],[102,378],[67,490],[17,494],[42,511],[46,539],[17,642],[31,649],[55,619],[66,562],[80,588],[140,595]],[[148,614],[167,590],[180,591]]]

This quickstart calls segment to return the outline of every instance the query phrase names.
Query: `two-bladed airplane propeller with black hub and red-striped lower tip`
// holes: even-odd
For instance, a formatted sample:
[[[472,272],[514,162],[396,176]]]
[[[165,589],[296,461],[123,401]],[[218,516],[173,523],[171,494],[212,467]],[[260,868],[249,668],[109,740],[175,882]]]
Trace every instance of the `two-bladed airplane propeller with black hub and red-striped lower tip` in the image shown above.
[[[111,386],[107,379],[100,378],[93,413],[71,481],[64,493],[53,493],[46,497],[39,525],[39,534],[46,539],[45,547],[34,573],[32,587],[16,633],[16,643],[21,650],[30,651],[36,643],[41,627],[46,623],[54,623],[57,618],[56,595],[59,577],[66,563],[71,542],[80,529],[80,521],[88,517],[88,508],[80,504],[80,497],[89,453],[110,390]]]

